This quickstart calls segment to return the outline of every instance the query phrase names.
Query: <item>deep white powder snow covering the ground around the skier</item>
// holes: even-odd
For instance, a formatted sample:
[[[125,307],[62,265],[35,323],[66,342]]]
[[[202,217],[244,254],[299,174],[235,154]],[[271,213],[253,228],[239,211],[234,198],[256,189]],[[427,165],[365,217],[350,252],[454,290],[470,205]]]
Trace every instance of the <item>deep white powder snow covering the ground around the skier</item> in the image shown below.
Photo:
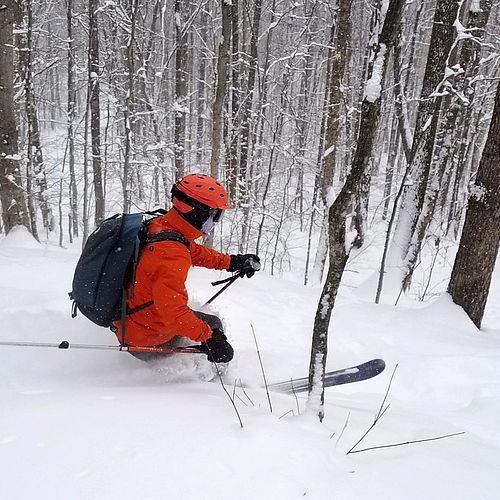
[[[0,239],[2,341],[115,343],[83,316],[71,319],[78,253],[23,231]],[[252,326],[268,381],[307,373],[320,289],[300,279],[264,271],[210,308],[236,351],[226,379],[251,387],[248,397],[236,390],[243,428],[220,384],[202,380],[210,367],[200,356],[148,367],[116,351],[0,346],[0,498],[500,498],[500,275],[479,332],[446,295],[375,305],[369,271],[356,267],[368,254],[347,273],[328,368],[373,357],[387,368],[328,389],[322,424],[305,397],[271,394],[271,413],[260,388]],[[191,272],[193,307],[224,275]],[[355,450],[465,434],[346,454],[371,426],[396,365],[389,408]]]

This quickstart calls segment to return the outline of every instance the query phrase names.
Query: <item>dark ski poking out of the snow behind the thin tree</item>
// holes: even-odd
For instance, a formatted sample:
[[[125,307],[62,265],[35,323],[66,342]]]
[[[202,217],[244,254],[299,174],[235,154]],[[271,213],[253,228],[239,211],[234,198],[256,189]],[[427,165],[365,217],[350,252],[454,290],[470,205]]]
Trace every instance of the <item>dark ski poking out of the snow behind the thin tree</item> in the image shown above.
[[[351,384],[352,382],[360,382],[375,377],[382,373],[385,368],[383,359],[371,359],[366,363],[342,368],[325,373],[325,387],[333,387],[335,385]],[[283,392],[285,394],[295,394],[298,392],[306,392],[309,389],[309,377],[302,377],[277,382],[269,385],[269,390]]]

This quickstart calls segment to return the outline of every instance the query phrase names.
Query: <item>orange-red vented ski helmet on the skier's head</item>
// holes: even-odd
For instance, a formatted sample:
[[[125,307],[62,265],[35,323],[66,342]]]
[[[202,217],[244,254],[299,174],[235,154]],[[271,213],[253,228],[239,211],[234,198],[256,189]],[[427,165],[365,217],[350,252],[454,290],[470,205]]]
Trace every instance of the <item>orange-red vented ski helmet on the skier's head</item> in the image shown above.
[[[225,210],[229,208],[226,190],[213,177],[205,174],[189,174],[184,176],[172,188],[174,206],[177,202],[183,202],[176,197],[176,191],[187,195],[189,198],[205,205],[209,208]],[[181,198],[184,198],[181,196]],[[187,201],[187,200],[186,200]],[[184,212],[184,207],[181,212]]]

